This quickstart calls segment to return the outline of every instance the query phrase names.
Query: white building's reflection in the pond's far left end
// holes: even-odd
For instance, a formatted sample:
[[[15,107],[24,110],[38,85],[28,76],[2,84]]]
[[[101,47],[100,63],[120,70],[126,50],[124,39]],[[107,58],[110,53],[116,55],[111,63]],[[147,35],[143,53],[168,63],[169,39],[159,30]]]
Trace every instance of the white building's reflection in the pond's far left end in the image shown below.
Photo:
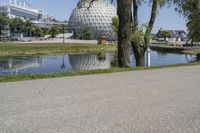
[[[43,59],[40,57],[0,58],[0,73],[18,74],[19,71],[25,71],[28,68],[39,67],[42,65]]]

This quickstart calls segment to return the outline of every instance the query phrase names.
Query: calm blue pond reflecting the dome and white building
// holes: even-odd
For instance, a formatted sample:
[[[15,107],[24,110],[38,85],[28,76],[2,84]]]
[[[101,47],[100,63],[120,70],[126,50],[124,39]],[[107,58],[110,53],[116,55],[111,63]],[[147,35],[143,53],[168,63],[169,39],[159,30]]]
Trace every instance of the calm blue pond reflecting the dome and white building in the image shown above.
[[[34,74],[52,72],[73,72],[111,68],[115,53],[62,54],[19,57],[0,57],[0,74]],[[135,66],[133,54],[131,65]],[[189,63],[194,55],[151,51],[151,65]]]

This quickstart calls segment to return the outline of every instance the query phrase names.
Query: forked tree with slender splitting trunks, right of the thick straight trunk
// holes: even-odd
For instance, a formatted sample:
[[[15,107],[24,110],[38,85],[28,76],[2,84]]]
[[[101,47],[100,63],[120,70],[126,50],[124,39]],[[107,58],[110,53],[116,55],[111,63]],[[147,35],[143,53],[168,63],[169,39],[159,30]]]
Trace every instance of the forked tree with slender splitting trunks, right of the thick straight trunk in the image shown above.
[[[159,6],[162,7],[165,3],[165,0],[149,0],[151,4],[151,16],[150,20],[148,22],[148,25],[146,27],[146,31],[144,33],[144,43],[141,44],[139,42],[139,39],[132,39],[131,40],[131,46],[135,55],[136,60],[136,66],[145,66],[145,52],[147,48],[149,47],[150,43],[150,35],[156,20],[156,15],[158,12]],[[139,5],[142,4],[142,0],[133,0],[133,29],[132,29],[132,35],[137,35],[139,32],[139,21],[138,21],[138,8]]]

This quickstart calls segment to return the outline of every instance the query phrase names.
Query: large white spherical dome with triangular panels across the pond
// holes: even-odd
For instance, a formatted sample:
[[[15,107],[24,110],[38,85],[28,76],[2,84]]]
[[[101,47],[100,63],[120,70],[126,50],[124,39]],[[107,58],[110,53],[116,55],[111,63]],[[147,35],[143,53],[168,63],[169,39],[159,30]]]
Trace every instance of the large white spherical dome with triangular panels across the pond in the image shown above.
[[[69,19],[69,31],[74,36],[82,36],[83,29],[91,26],[94,39],[105,36],[107,40],[117,39],[112,29],[112,18],[117,16],[117,9],[109,0],[95,1],[90,8],[88,0],[80,0]]]

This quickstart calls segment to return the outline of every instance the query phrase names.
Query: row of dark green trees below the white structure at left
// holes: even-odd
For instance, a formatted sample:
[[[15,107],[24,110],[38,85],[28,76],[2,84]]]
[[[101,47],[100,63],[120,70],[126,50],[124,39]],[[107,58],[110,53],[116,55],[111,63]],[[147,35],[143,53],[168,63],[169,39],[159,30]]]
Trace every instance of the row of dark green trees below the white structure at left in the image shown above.
[[[22,33],[26,37],[44,37],[50,35],[55,37],[59,33],[63,33],[63,28],[60,25],[50,27],[40,27],[31,22],[31,20],[22,20],[21,18],[9,18],[6,15],[0,14],[0,36],[6,37],[7,32]]]

